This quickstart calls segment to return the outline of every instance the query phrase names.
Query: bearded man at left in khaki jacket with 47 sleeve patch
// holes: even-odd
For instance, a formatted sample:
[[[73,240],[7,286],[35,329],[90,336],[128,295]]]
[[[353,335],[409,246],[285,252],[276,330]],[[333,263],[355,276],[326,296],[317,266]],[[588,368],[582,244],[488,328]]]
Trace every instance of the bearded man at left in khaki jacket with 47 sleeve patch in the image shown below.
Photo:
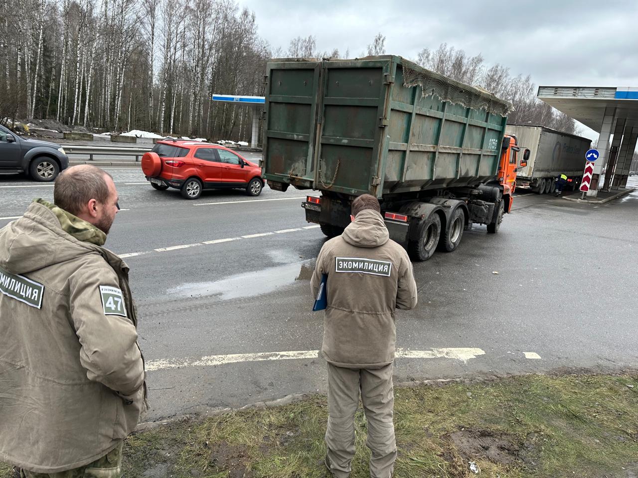
[[[0,229],[0,461],[22,477],[119,477],[145,408],[128,266],[101,247],[117,199],[74,166]]]

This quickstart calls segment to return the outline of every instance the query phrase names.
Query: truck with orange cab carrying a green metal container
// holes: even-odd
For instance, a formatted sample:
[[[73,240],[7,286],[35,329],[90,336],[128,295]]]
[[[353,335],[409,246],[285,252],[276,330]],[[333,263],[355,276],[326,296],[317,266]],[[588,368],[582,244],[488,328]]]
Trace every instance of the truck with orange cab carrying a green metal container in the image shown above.
[[[276,59],[265,82],[263,176],[321,191],[302,206],[325,235],[364,193],[416,260],[456,249],[472,224],[498,231],[519,166],[507,101],[397,56]]]

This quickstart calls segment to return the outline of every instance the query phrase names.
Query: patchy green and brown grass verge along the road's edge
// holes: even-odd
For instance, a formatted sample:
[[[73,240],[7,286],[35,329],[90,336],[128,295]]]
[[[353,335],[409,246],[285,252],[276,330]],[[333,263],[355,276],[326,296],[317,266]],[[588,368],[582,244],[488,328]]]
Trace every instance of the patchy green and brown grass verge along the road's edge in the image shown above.
[[[638,375],[525,375],[396,389],[396,478],[618,477],[638,474]],[[325,478],[325,396],[185,419],[137,433],[124,476]],[[369,477],[355,416],[352,478]],[[162,475],[160,473],[160,475]],[[0,478],[11,468],[0,464]]]

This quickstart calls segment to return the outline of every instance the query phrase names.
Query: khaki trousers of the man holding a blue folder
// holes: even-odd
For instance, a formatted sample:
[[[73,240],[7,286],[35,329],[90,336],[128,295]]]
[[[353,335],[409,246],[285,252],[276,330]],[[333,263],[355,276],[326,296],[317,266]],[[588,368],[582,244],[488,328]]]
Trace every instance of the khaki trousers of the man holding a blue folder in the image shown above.
[[[366,445],[372,452],[370,476],[390,478],[397,456],[394,440],[394,364],[382,368],[343,368],[328,364],[326,464],[336,478],[347,478],[355,454],[354,417],[359,393],[367,419]]]

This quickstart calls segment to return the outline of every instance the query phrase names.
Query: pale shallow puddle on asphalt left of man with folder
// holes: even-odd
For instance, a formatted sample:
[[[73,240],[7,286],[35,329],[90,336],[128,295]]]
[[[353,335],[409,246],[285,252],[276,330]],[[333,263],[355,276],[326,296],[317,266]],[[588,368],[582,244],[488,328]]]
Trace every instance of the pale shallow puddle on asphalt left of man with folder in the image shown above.
[[[309,259],[255,272],[244,272],[212,282],[190,282],[168,289],[167,293],[181,297],[218,295],[221,300],[254,297],[291,286],[297,280],[310,280],[313,270],[315,259]]]

